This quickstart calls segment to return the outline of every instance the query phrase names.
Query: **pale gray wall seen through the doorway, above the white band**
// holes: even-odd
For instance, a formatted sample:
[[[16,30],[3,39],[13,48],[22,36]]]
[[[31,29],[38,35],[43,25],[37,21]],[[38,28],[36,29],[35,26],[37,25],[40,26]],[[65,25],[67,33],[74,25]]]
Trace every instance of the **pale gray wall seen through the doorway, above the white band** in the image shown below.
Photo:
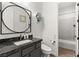
[[[75,40],[75,2],[59,4],[58,35],[59,39]]]

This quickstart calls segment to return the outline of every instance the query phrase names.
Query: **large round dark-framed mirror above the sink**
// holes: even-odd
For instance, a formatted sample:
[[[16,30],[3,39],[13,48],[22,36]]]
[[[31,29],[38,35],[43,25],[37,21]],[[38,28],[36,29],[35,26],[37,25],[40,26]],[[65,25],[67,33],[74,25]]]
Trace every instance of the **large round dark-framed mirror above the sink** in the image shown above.
[[[2,24],[11,31],[9,33],[31,32],[31,11],[18,5],[8,5],[3,8],[1,14]]]

